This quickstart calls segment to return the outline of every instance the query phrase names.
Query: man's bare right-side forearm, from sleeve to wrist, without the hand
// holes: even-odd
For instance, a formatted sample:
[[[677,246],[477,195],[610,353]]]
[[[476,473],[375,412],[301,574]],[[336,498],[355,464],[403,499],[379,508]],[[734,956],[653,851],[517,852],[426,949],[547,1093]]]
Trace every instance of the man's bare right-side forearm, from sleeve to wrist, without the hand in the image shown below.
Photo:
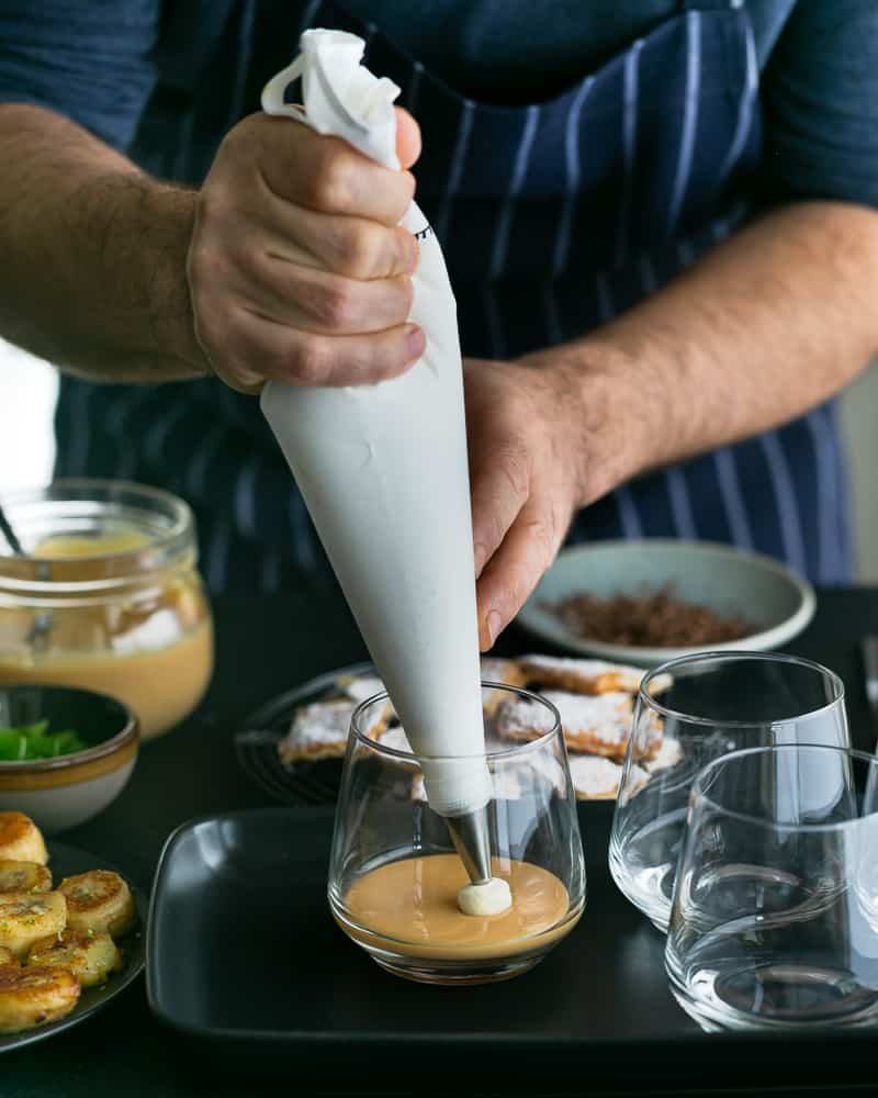
[[[766,215],[611,323],[537,357],[559,363],[583,392],[597,430],[584,455],[596,498],[649,468],[795,418],[876,351],[878,213],[803,203]]]

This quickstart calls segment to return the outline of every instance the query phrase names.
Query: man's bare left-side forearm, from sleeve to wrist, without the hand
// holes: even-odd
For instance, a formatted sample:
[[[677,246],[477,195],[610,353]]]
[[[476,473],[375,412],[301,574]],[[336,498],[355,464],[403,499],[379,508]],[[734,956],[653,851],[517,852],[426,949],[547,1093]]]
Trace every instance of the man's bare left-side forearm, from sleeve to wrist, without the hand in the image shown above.
[[[93,380],[203,373],[194,204],[67,119],[0,104],[0,336]]]

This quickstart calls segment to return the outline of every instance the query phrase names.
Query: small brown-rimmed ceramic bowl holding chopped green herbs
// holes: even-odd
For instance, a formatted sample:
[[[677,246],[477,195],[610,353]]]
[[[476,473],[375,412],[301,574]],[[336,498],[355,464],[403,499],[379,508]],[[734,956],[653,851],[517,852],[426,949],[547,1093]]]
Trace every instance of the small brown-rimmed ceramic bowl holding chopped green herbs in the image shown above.
[[[122,702],[67,686],[0,686],[0,727],[44,717],[72,728],[83,751],[24,762],[0,761],[0,811],[25,813],[46,834],[97,816],[125,787],[137,759],[137,718]]]

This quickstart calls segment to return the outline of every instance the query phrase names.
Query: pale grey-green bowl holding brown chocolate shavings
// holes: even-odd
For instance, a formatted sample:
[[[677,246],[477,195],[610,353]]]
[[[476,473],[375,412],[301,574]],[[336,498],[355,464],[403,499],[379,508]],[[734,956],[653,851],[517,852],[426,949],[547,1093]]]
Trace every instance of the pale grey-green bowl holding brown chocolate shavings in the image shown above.
[[[691,648],[607,645],[572,632],[547,604],[575,594],[635,595],[672,585],[684,602],[753,623],[741,640]],[[570,652],[616,663],[655,666],[706,651],[778,648],[808,625],[817,595],[807,580],[762,553],[710,541],[644,538],[572,546],[558,556],[518,615],[526,629]]]

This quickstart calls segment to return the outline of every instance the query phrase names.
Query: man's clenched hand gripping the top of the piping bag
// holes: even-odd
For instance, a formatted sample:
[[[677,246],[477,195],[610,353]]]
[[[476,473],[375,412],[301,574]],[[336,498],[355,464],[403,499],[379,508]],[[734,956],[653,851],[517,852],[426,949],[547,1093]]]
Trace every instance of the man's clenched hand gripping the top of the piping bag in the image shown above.
[[[404,169],[418,128],[397,110]],[[406,323],[417,244],[397,223],[414,177],[336,137],[256,114],[223,142],[189,250],[195,333],[214,371],[257,392],[268,378],[348,385],[402,373],[424,333]]]

